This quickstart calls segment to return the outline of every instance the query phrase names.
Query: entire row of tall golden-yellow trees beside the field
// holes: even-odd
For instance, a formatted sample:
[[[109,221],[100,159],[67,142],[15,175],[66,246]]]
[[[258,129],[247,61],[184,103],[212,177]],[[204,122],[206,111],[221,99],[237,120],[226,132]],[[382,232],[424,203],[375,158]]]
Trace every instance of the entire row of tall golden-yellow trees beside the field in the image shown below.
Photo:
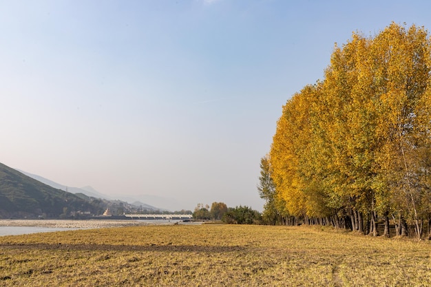
[[[431,235],[430,52],[425,28],[397,23],[335,44],[324,79],[283,106],[261,160],[264,222]]]

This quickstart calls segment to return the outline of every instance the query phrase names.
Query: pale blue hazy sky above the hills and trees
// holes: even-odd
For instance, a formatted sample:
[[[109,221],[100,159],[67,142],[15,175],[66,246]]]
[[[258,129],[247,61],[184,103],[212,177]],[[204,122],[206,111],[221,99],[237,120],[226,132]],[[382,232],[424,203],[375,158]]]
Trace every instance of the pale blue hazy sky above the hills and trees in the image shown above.
[[[262,210],[282,105],[429,1],[0,1],[0,162],[167,209]],[[142,198],[142,197],[141,197]],[[154,202],[145,202],[154,204]]]

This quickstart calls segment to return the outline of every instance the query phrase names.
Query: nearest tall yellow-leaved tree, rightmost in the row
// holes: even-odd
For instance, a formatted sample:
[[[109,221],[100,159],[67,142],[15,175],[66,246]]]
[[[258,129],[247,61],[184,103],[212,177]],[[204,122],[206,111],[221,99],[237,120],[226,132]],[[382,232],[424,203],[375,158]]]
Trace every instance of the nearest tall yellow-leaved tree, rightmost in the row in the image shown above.
[[[401,227],[406,226],[404,220],[412,221],[420,238],[425,216],[421,201],[429,193],[423,184],[429,170],[423,162],[429,134],[421,132],[418,116],[423,118],[430,108],[423,101],[429,82],[430,41],[423,28],[412,25],[406,30],[392,23],[376,36],[373,46],[379,109],[376,137],[382,142],[377,172],[388,184],[392,213]]]

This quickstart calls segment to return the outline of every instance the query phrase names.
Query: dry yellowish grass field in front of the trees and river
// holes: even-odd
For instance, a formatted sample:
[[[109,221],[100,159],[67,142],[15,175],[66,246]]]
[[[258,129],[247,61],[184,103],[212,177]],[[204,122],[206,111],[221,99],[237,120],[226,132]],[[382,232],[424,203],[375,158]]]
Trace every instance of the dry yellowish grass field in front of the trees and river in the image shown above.
[[[431,244],[222,224],[5,236],[0,286],[431,286]]]

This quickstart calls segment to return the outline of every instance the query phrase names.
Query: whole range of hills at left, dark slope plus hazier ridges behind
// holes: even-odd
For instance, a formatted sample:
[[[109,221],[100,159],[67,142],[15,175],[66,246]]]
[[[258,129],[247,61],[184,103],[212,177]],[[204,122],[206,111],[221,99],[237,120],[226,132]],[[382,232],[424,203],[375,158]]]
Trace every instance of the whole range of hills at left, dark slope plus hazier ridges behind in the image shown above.
[[[55,182],[50,181],[50,183]],[[87,189],[90,188],[87,187]],[[85,191],[85,189],[78,190]],[[85,195],[85,192],[71,193],[56,189],[0,163],[0,219],[101,218],[107,208],[116,217],[123,217],[127,213],[160,211],[160,209],[134,206],[121,200],[94,198]]]

